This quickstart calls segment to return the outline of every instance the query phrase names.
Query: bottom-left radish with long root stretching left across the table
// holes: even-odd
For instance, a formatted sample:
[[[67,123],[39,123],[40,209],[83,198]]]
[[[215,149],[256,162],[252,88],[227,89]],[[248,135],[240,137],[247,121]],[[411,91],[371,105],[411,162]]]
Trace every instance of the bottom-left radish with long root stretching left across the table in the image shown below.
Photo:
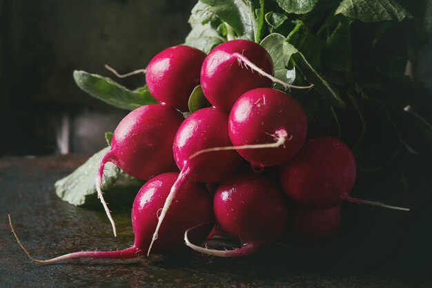
[[[68,253],[49,260],[32,258],[23,247],[17,234],[12,228],[14,236],[31,260],[39,263],[52,263],[70,258],[111,258],[129,259],[137,258],[147,251],[152,240],[152,233],[157,224],[157,213],[164,204],[171,186],[177,180],[179,173],[163,173],[146,182],[137,193],[132,206],[132,228],[135,242],[132,247],[119,251],[79,251]],[[186,181],[181,191],[177,193],[177,200],[166,214],[166,221],[160,229],[159,241],[155,244],[157,253],[172,253],[184,247],[184,231],[190,227],[194,230],[197,242],[204,241],[213,226],[212,198],[206,186],[193,181]],[[202,225],[202,224],[211,225]],[[201,225],[200,225],[201,224]]]

